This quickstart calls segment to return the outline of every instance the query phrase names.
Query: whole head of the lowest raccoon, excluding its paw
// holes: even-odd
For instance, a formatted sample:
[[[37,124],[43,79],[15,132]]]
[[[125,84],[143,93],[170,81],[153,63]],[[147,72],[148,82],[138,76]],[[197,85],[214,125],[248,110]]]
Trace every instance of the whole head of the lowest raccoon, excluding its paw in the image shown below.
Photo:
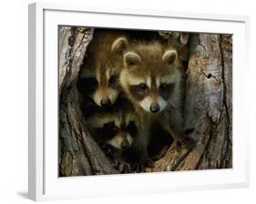
[[[128,104],[102,110],[87,118],[87,128],[99,144],[119,150],[130,148],[138,135],[139,121]]]

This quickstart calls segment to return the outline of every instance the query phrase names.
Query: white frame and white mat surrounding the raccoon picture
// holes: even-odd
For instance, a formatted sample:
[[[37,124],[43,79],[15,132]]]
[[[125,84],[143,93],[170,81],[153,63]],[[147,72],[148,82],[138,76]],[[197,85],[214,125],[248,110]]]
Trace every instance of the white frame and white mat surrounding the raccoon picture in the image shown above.
[[[86,5],[46,3],[29,5],[29,198],[74,199],[115,196],[117,193],[128,195],[247,187],[249,134],[246,122],[241,118],[245,118],[246,107],[246,100],[242,97],[242,82],[246,80],[245,69],[249,68],[249,60],[245,55],[249,52],[249,20],[247,16],[238,15],[88,8]],[[233,168],[58,178],[58,25],[233,34]]]

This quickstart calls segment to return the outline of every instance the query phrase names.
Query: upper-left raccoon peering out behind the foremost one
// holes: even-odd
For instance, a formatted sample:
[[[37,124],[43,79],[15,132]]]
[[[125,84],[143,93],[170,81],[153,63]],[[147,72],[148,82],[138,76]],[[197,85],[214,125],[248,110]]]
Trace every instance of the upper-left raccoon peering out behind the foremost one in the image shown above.
[[[109,107],[118,98],[121,90],[118,78],[127,45],[125,32],[96,29],[87,47],[78,89],[98,107]]]

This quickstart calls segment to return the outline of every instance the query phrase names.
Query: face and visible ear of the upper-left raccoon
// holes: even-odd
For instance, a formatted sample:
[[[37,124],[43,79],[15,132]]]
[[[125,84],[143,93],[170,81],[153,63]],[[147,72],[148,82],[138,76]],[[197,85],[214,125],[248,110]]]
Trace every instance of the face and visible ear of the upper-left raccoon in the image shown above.
[[[111,46],[108,54],[93,56],[83,69],[86,94],[99,107],[108,107],[115,103],[120,93],[119,74],[122,66],[121,50],[127,45],[125,38],[120,37]]]

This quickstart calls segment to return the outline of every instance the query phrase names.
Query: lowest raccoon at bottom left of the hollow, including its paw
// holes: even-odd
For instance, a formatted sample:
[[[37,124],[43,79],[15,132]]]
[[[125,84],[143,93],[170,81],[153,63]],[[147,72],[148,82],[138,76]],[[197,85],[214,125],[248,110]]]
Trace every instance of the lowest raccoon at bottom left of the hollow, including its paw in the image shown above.
[[[114,166],[118,166],[119,171],[124,168],[126,171],[130,170],[130,166],[122,158],[122,153],[137,143],[139,126],[138,117],[133,114],[128,101],[87,118],[87,128],[92,137],[108,157],[117,162]]]

